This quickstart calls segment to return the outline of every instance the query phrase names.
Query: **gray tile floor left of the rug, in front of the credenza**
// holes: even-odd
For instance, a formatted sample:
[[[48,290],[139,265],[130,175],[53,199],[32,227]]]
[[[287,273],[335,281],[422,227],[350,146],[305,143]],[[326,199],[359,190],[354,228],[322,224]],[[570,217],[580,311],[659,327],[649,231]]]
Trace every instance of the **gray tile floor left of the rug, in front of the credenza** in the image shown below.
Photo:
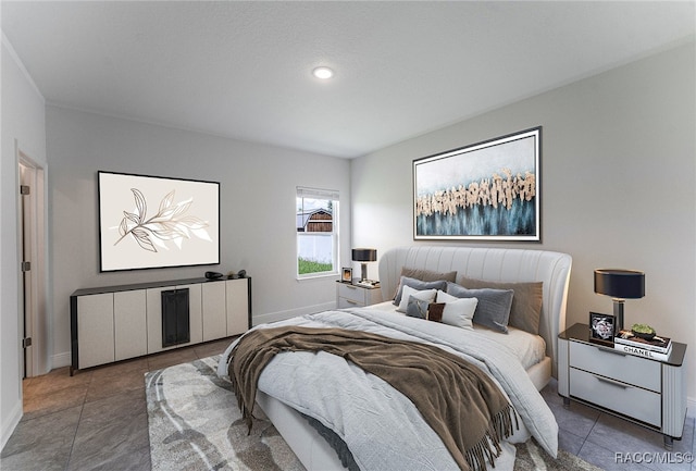
[[[150,470],[148,371],[220,355],[223,339],[112,365],[24,381],[24,417],[0,455],[2,471]]]

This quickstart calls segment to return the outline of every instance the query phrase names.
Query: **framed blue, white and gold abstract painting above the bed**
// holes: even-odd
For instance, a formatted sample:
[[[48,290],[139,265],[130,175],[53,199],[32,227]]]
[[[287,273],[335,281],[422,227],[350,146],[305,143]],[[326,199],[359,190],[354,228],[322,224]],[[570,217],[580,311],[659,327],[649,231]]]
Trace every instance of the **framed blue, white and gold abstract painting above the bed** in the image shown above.
[[[542,127],[413,161],[413,238],[540,240]]]

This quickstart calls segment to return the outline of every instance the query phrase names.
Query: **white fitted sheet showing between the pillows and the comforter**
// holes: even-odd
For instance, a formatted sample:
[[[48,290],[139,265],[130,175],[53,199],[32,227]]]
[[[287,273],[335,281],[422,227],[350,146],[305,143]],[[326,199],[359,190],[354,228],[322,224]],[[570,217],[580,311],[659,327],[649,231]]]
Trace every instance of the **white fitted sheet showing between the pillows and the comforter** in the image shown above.
[[[391,301],[384,301],[369,307],[369,309],[399,314],[399,312],[396,311],[396,308],[397,307]],[[544,342],[544,338],[538,335],[530,334],[529,332],[524,332],[512,326],[508,326],[507,335],[478,324],[474,324],[474,331],[486,338],[500,344],[501,348],[505,347],[513,350],[514,356],[520,360],[520,363],[522,363],[522,367],[525,370],[529,370],[542,361],[546,356],[546,342]]]

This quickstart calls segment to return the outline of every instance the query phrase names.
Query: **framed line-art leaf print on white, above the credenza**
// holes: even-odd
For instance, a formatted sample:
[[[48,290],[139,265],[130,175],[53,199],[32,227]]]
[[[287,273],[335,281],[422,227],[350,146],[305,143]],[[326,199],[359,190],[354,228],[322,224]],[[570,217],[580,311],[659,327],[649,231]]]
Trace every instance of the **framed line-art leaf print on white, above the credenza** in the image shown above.
[[[220,183],[98,172],[99,271],[220,263]]]

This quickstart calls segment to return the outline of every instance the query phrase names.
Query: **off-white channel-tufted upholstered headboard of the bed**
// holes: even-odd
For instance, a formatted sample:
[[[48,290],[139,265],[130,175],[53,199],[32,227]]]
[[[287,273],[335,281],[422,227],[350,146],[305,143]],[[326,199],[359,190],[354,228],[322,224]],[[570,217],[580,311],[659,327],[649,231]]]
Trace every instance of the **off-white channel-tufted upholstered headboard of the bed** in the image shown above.
[[[572,258],[547,250],[478,247],[398,247],[380,258],[380,283],[384,300],[391,299],[399,284],[401,268],[437,272],[457,271],[457,276],[494,282],[543,282],[539,335],[546,342],[556,376],[558,333],[566,329],[566,302]]]

